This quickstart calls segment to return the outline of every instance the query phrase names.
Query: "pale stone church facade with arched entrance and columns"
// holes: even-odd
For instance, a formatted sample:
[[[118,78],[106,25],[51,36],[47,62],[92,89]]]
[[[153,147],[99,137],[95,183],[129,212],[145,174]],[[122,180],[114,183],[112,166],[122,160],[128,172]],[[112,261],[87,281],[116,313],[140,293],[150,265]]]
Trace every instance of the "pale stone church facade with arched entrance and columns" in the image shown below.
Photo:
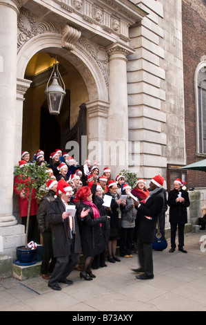
[[[80,163],[90,156],[102,169],[110,166],[113,178],[121,169],[146,180],[161,174],[169,188],[179,176],[191,131],[185,124],[182,2],[190,8],[189,0],[0,0],[0,148],[6,157],[0,254],[12,256],[23,241],[14,166],[23,150],[31,156],[46,151],[48,124],[55,144],[48,154],[78,143]],[[68,102],[52,120],[44,91],[54,59]],[[181,177],[187,180],[187,172]]]

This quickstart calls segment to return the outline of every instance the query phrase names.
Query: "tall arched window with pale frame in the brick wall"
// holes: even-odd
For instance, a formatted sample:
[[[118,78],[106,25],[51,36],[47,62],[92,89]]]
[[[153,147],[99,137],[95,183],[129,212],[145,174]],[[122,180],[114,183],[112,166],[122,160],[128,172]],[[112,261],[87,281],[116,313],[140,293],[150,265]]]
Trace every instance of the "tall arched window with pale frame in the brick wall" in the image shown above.
[[[195,93],[197,152],[198,154],[206,154],[206,58],[196,68]]]

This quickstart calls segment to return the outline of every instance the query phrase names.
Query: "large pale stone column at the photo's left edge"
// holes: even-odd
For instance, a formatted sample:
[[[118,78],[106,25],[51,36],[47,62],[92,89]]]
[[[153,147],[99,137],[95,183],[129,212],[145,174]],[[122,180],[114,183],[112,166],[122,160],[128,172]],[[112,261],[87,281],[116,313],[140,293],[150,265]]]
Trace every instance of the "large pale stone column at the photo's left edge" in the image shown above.
[[[17,97],[17,0],[0,0],[0,254],[12,254],[22,225],[12,215]],[[17,225],[17,226],[16,226]],[[3,238],[3,240],[2,240]],[[11,249],[10,249],[11,248]]]

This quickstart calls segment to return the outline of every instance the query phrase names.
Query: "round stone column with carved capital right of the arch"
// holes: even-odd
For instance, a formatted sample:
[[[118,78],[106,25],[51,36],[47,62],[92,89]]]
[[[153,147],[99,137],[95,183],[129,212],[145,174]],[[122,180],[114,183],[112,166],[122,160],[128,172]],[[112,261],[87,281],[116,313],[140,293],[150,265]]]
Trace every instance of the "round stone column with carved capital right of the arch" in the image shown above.
[[[128,168],[127,55],[133,54],[134,50],[115,43],[107,46],[107,53],[110,57],[107,165],[114,178],[121,169]]]

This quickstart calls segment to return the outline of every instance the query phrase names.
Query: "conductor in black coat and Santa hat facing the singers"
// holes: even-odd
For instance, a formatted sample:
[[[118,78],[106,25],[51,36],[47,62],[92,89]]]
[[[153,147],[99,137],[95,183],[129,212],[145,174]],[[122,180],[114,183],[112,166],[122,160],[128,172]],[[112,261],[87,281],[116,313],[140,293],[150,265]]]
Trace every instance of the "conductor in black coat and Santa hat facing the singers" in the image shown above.
[[[156,222],[159,214],[163,211],[165,198],[163,193],[164,178],[160,175],[154,176],[150,182],[150,194],[145,199],[145,203],[134,201],[139,219],[138,227],[138,258],[141,268],[134,269],[134,272],[143,273],[136,275],[137,279],[153,279],[153,259],[152,242],[156,232]]]

